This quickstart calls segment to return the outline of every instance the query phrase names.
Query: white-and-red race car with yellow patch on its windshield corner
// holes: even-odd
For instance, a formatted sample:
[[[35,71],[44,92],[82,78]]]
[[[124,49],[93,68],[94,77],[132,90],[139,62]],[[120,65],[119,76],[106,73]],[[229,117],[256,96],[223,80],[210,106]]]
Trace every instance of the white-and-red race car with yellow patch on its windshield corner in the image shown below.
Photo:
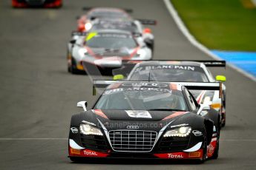
[[[122,60],[150,60],[152,51],[142,37],[123,30],[97,30],[89,33],[73,33],[68,44],[68,71],[76,73],[88,67],[114,69],[122,66]],[[84,67],[88,64],[88,67]]]

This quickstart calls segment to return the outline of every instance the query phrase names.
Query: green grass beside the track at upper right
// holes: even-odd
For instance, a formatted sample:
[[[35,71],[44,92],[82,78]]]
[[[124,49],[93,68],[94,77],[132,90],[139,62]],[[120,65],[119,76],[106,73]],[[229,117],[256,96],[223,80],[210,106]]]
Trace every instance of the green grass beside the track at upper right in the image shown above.
[[[209,49],[256,51],[256,9],[240,0],[172,0],[186,27]]]

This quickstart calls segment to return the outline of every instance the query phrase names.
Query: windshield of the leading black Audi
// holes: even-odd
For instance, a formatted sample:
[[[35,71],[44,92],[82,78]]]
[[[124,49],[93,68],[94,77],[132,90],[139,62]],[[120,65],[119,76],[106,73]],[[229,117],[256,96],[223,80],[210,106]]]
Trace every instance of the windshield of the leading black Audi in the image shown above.
[[[187,107],[181,91],[159,88],[118,88],[106,89],[94,109],[186,111]]]

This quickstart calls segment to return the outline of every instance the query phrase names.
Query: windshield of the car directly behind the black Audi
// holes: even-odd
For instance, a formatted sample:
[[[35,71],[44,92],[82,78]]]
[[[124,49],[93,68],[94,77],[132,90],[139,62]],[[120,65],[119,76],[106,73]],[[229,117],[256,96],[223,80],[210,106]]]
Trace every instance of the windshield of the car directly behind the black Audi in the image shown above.
[[[130,80],[209,82],[201,67],[172,65],[137,67]]]

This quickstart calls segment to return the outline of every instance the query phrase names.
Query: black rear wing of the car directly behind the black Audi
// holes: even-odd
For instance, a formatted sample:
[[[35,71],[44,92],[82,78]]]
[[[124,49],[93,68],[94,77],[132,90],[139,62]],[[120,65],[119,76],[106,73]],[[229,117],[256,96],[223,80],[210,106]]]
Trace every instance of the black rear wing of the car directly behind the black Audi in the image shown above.
[[[206,67],[225,67],[226,61],[214,61],[214,60],[150,60],[150,61],[193,61],[200,62],[206,65]],[[143,60],[123,60],[122,67],[119,69],[113,69],[113,75],[128,75],[136,64],[143,62]]]

